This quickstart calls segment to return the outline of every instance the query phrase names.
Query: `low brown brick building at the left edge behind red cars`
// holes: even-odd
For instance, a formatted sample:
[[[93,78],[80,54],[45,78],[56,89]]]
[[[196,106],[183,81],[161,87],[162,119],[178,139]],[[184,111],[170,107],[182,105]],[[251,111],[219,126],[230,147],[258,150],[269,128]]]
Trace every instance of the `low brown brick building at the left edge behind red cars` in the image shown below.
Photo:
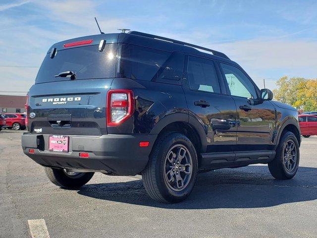
[[[0,95],[0,113],[24,113],[26,96]]]

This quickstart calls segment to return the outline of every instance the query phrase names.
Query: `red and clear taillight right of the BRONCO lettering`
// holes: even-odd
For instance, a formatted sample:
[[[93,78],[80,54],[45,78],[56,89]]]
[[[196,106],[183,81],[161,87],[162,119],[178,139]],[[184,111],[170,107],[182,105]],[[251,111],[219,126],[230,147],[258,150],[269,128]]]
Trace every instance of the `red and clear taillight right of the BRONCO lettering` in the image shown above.
[[[131,117],[134,111],[133,91],[113,89],[107,92],[107,126],[116,126]]]

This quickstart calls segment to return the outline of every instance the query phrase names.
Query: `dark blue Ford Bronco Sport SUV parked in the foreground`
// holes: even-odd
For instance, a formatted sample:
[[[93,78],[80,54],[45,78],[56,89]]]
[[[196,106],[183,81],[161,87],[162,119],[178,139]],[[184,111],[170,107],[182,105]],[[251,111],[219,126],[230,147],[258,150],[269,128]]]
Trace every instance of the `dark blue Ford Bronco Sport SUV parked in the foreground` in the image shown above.
[[[217,51],[135,31],[81,37],[48,51],[22,147],[60,187],[142,175],[152,198],[179,202],[199,172],[262,163],[276,179],[296,174],[297,111],[271,100]]]

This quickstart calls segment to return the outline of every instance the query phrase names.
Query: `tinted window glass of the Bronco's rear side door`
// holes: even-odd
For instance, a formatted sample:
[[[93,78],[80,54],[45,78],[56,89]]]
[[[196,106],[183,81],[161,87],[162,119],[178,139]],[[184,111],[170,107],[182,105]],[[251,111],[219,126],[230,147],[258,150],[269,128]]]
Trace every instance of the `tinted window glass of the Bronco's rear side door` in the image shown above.
[[[220,93],[217,73],[211,60],[189,56],[187,77],[190,89]]]

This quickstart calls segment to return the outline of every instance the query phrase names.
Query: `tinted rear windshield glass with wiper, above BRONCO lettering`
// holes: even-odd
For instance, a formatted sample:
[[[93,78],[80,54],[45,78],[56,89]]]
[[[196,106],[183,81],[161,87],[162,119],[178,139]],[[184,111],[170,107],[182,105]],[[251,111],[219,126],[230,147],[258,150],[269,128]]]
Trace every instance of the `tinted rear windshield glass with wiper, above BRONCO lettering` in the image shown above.
[[[48,53],[41,65],[35,83],[70,80],[54,77],[60,72],[73,71],[77,79],[115,77],[117,44],[106,44],[103,52],[98,45],[59,50],[53,59]]]

